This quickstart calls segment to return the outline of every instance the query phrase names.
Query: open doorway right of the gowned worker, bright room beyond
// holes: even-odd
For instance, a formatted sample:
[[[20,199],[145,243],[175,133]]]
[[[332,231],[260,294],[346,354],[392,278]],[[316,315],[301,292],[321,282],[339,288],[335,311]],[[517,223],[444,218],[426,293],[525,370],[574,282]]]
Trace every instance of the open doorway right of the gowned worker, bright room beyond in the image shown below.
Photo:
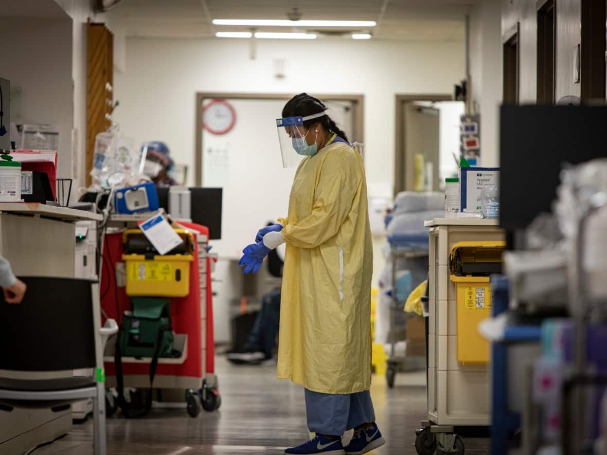
[[[463,113],[451,95],[396,95],[395,194],[442,189],[456,169]]]

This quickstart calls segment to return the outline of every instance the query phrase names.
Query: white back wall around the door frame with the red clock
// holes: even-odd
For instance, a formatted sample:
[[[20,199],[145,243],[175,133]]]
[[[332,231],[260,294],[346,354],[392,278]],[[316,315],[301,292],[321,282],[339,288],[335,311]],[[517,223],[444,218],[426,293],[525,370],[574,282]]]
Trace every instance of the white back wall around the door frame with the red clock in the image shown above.
[[[362,93],[367,178],[392,185],[395,94],[452,92],[463,55],[463,40],[259,41],[251,60],[247,41],[132,38],[126,72],[115,75],[115,116],[136,143],[164,140],[193,169],[195,92]],[[285,58],[284,79],[273,76],[276,57]]]

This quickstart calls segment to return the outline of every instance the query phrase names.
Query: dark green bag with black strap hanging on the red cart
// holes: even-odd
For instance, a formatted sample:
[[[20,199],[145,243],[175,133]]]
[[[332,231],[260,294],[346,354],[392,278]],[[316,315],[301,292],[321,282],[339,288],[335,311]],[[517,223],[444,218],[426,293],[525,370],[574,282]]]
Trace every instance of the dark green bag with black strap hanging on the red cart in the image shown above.
[[[174,351],[174,335],[171,328],[171,300],[168,298],[134,297],[132,311],[125,311],[118,332],[115,365],[118,405],[125,417],[141,417],[152,408],[152,385],[158,366],[158,357],[179,357]],[[143,408],[134,409],[132,403],[124,399],[124,376],[122,357],[151,357],[150,387],[148,399]]]

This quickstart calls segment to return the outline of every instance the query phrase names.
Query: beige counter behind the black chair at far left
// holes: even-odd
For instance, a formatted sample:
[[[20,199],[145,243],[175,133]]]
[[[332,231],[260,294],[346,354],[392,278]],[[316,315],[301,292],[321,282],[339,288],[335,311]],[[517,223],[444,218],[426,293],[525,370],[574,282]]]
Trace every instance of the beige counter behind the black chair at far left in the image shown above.
[[[75,222],[101,220],[101,215],[44,204],[0,203],[0,255],[16,275],[68,277],[75,266]],[[1,371],[1,377],[49,379],[72,372]],[[0,453],[24,453],[72,430],[72,409],[0,409]]]

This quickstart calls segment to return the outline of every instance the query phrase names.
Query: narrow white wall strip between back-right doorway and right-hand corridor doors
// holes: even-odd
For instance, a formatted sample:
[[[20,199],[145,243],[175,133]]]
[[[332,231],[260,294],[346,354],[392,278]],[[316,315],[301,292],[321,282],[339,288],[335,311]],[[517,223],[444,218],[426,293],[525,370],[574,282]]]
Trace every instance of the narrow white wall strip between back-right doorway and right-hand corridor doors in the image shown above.
[[[502,67],[500,0],[483,0],[470,15],[470,96],[474,112],[481,116],[482,166],[498,166],[500,161]]]

